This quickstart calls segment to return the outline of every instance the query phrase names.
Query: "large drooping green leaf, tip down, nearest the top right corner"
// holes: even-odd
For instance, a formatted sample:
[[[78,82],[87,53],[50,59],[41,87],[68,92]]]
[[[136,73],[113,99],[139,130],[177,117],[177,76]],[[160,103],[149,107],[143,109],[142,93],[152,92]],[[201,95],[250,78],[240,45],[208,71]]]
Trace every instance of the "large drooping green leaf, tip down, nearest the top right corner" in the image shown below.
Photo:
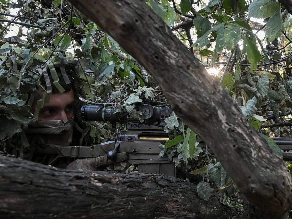
[[[276,12],[269,18],[268,22],[266,23],[266,34],[270,41],[273,41],[276,37],[280,37],[281,31],[285,31],[285,26],[281,19],[280,2],[278,2],[276,5]]]

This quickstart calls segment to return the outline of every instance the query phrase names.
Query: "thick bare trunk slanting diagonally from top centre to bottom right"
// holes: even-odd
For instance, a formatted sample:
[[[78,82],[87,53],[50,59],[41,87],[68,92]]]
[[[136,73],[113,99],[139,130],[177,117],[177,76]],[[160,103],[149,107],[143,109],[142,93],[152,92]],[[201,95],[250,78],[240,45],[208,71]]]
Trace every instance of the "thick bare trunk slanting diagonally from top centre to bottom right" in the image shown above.
[[[210,146],[240,191],[266,212],[263,218],[284,218],[292,204],[285,163],[150,7],[136,0],[71,3],[155,78],[177,116]]]

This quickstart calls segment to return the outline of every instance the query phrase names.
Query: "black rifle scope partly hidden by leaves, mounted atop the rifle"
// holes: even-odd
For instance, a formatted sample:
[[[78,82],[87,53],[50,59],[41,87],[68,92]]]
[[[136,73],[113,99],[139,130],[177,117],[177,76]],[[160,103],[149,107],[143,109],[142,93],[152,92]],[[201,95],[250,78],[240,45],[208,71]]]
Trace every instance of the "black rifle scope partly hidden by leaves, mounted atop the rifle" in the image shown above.
[[[90,121],[120,122],[134,120],[129,117],[128,114],[126,114],[127,116],[122,116],[121,114],[114,113],[114,110],[115,109],[112,106],[83,105],[81,107],[81,117],[82,120]],[[139,111],[142,112],[142,118],[149,122],[164,121],[164,119],[169,117],[172,113],[170,106],[153,107],[149,104],[143,104],[140,106]]]

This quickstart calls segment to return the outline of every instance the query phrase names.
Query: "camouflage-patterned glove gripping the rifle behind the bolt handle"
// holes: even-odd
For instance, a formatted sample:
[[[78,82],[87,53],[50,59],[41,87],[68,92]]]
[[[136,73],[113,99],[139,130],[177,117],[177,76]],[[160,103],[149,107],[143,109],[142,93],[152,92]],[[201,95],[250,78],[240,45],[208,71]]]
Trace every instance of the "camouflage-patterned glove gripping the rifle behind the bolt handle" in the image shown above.
[[[102,157],[96,157],[96,158],[78,159],[70,163],[65,169],[83,170],[83,171],[99,171],[99,170],[105,170],[108,166],[113,166],[115,164],[125,162],[128,159],[129,159],[128,153],[120,152],[120,153],[117,153],[116,159],[114,161],[108,160],[106,155]]]

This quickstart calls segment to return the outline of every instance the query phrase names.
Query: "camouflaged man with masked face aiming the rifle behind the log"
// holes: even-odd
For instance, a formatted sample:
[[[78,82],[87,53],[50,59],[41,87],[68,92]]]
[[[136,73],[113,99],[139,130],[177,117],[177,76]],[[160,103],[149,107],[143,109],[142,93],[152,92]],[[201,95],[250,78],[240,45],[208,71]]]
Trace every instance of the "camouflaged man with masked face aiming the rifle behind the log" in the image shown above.
[[[35,89],[30,98],[33,99],[31,112],[37,120],[24,126],[25,135],[21,134],[23,147],[8,141],[6,153],[58,168],[105,170],[113,164],[107,161],[106,155],[74,161],[74,158],[59,157],[55,149],[56,145],[81,143],[81,146],[84,146],[90,143],[87,134],[89,128],[82,122],[79,113],[79,97],[85,96],[84,89],[78,81],[80,78],[69,67],[70,65],[61,63],[48,64],[47,68],[44,68],[40,76],[40,88]],[[123,173],[131,172],[133,168],[121,171],[124,167],[122,164],[127,159],[127,153],[118,153],[114,162],[115,168],[109,169]]]

